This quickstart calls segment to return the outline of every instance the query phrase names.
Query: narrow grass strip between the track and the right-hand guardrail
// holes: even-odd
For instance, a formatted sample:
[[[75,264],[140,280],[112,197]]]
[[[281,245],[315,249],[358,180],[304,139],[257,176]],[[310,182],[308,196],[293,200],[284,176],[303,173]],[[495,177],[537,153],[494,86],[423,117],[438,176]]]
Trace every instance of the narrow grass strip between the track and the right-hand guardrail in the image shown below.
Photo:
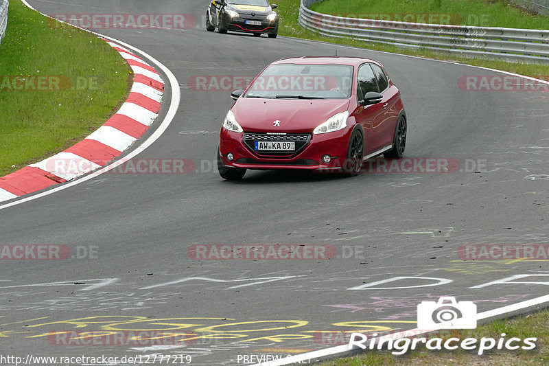
[[[475,65],[481,67],[489,67],[491,69],[498,69],[503,71],[509,71],[513,73],[519,73],[521,75],[538,77],[544,80],[549,80],[549,66],[547,65],[535,65],[535,64],[525,64],[519,62],[506,62],[503,60],[489,60],[486,58],[466,58],[459,57],[454,54],[449,54],[445,52],[433,52],[428,49],[407,49],[402,47],[396,47],[393,45],[386,45],[383,43],[372,43],[365,41],[352,40],[350,38],[331,38],[327,36],[320,36],[316,32],[309,30],[304,30],[298,23],[297,17],[299,14],[299,0],[274,0],[276,1],[279,8],[277,12],[280,16],[281,27],[279,34],[283,36],[291,36],[296,38],[305,38],[311,39],[314,41],[323,41],[327,43],[336,43],[340,45],[349,45],[352,47],[359,47],[364,49],[375,49],[377,51],[384,52],[393,52],[395,54],[406,54],[411,56],[432,58],[435,60],[449,60],[453,62],[460,62],[467,65]],[[329,3],[336,0],[325,0],[323,3]],[[370,0],[372,2],[377,0]],[[391,0],[388,0],[391,1]],[[453,0],[460,1],[460,0]],[[443,3],[451,3],[453,1],[443,1]],[[343,7],[346,4],[353,3],[353,1],[337,1],[338,4]],[[411,0],[410,0],[411,2]],[[422,3],[421,0],[415,1],[416,3]],[[425,3],[428,3],[429,0],[425,0]],[[480,1],[476,0],[478,3],[487,3],[486,0]],[[401,8],[399,8],[401,9]],[[358,12],[357,12],[358,13]],[[360,14],[364,13],[360,11]],[[425,11],[423,11],[425,13]],[[549,29],[549,27],[545,28]]]

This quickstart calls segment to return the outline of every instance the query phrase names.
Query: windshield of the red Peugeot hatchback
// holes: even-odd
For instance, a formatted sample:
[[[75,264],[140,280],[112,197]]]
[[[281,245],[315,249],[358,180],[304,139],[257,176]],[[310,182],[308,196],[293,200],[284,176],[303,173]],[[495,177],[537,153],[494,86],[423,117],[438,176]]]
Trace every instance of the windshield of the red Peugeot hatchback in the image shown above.
[[[347,99],[353,67],[347,65],[270,65],[245,98]]]

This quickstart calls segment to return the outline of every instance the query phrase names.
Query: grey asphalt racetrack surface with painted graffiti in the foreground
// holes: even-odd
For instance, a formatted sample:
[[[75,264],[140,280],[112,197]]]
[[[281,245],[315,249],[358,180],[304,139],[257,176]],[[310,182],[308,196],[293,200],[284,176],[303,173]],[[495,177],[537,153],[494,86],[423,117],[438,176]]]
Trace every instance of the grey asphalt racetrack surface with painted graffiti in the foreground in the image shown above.
[[[504,76],[465,65],[281,36],[206,32],[208,3],[30,1],[47,14],[196,18],[187,29],[97,29],[154,56],[179,83],[176,117],[137,158],[188,159],[195,169],[109,172],[0,209],[0,244],[66,245],[75,257],[1,261],[3,353],[156,354],[191,356],[191,365],[242,365],[242,355],[342,344],[321,331],[415,328],[417,305],[440,296],[476,301],[485,312],[548,293],[543,255],[463,260],[458,251],[549,244],[548,93],[464,90],[460,78]],[[447,159],[458,169],[353,178],[248,171],[242,181],[223,181],[215,154],[231,88],[196,90],[191,80],[255,76],[279,58],[336,51],[379,60],[401,89],[406,158]],[[148,135],[169,107],[166,87],[163,111]],[[337,258],[196,260],[192,249],[203,244],[319,245],[335,247]],[[89,343],[89,334],[121,330],[156,339],[162,339],[158,332],[187,334],[187,341],[102,343],[103,337]]]

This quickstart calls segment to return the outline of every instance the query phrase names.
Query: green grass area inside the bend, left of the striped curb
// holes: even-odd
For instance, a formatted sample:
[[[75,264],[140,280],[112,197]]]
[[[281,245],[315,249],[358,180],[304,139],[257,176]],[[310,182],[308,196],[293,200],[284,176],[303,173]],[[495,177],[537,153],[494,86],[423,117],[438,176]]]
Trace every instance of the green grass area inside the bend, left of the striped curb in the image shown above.
[[[10,1],[0,70],[0,176],[80,141],[128,95],[130,69],[114,49],[92,34],[47,21],[19,0]],[[55,83],[14,90],[14,83],[39,76],[60,78],[60,90]]]

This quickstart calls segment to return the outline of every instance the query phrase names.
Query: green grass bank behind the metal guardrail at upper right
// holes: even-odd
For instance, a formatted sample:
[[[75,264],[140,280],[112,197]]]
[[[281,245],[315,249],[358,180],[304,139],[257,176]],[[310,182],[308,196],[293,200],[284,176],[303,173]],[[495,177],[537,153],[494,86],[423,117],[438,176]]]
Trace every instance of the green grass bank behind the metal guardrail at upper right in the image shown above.
[[[549,16],[531,14],[505,0],[324,0],[314,3],[311,10],[367,19],[373,18],[368,14],[376,19],[383,15],[397,21],[402,14],[432,14],[433,21],[425,23],[438,23],[441,19],[441,23],[453,25],[549,29]]]

